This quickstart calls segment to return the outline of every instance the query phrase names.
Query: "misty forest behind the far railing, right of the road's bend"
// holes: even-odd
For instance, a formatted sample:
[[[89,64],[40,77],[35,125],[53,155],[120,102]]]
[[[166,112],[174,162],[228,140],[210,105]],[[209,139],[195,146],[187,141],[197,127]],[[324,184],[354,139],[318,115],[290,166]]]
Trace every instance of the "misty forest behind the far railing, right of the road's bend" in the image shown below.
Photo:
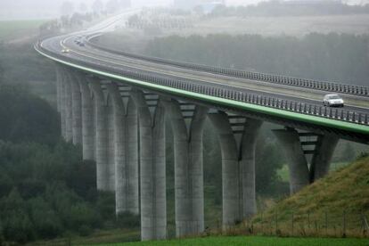
[[[298,78],[367,85],[369,37],[308,34],[305,37],[209,35],[160,37],[144,53],[179,61]]]

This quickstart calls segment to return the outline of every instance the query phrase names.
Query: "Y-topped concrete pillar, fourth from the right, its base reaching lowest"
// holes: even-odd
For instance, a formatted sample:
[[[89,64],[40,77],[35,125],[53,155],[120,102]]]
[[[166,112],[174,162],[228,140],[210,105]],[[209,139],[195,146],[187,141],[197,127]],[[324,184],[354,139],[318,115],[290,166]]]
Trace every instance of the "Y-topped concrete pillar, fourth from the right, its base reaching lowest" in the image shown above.
[[[167,237],[167,195],[165,168],[165,120],[160,102],[153,116],[142,91],[131,92],[139,119],[141,239]]]

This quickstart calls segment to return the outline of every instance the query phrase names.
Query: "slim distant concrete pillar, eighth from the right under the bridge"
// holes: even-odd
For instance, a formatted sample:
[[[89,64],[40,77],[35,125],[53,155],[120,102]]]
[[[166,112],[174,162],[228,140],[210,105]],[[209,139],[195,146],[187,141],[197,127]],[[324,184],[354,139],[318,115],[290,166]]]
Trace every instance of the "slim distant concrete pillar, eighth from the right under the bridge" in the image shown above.
[[[82,143],[82,102],[81,91],[79,88],[78,78],[75,74],[71,74],[71,95],[72,95],[72,133],[73,143]]]

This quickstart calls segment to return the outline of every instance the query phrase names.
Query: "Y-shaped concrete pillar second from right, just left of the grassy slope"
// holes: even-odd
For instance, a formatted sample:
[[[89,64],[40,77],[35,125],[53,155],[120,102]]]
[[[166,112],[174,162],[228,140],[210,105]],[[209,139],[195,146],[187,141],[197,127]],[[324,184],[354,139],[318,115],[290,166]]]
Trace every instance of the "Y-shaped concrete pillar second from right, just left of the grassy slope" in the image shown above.
[[[262,121],[246,119],[234,123],[243,126],[241,135],[236,136],[225,112],[210,113],[209,119],[217,128],[222,152],[223,225],[227,227],[257,211],[255,145]]]

